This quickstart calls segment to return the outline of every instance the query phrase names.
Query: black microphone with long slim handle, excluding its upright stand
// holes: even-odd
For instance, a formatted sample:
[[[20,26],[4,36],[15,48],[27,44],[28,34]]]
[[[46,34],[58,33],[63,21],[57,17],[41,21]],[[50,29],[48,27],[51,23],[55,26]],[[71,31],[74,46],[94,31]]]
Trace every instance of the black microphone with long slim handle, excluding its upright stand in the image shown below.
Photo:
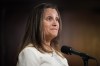
[[[75,54],[75,55],[78,55],[82,58],[87,58],[87,59],[93,59],[93,60],[96,60],[96,58],[94,57],[91,57],[89,56],[88,54],[85,54],[85,53],[82,53],[82,52],[79,52],[79,51],[76,51],[74,49],[72,49],[72,47],[69,47],[69,46],[62,46],[61,47],[61,52],[65,53],[65,54]]]

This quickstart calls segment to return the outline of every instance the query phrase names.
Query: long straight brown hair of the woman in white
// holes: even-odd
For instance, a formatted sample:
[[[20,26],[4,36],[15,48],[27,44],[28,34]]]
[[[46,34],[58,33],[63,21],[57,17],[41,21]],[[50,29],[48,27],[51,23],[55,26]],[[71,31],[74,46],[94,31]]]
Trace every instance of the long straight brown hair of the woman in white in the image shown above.
[[[46,8],[55,9],[59,15],[60,27],[59,27],[58,35],[54,39],[52,39],[51,46],[56,51],[60,51],[59,50],[59,35],[60,35],[60,30],[62,29],[61,17],[60,17],[57,7],[54,4],[48,4],[48,3],[39,4],[32,9],[32,12],[28,18],[28,22],[26,25],[25,35],[21,43],[21,50],[31,43],[39,51],[42,50],[44,52],[49,52],[43,47],[44,34],[43,34],[43,27],[42,27],[42,23],[43,23],[42,19],[43,19],[44,9]]]

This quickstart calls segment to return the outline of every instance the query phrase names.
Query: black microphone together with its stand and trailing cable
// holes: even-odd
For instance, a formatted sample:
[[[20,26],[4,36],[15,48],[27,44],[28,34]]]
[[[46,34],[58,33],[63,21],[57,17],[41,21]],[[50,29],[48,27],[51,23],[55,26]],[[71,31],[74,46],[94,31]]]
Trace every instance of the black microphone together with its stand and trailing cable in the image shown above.
[[[65,54],[75,54],[75,55],[78,55],[80,57],[82,57],[83,59],[83,62],[84,62],[84,66],[88,66],[88,60],[89,59],[93,59],[93,60],[96,60],[96,63],[97,63],[97,66],[98,66],[98,61],[96,58],[92,57],[92,56],[89,56],[88,54],[86,53],[82,53],[82,52],[79,52],[79,51],[76,51],[74,49],[72,49],[72,47],[69,47],[69,46],[62,46],[61,47],[61,52],[62,53],[65,53]]]

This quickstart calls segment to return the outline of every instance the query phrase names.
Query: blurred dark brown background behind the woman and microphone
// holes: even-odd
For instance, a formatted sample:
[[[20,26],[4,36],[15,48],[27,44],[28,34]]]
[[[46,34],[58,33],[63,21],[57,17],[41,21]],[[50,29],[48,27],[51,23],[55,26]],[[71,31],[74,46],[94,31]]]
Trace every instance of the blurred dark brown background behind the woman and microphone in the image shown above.
[[[95,57],[100,64],[100,1],[96,0],[0,0],[0,66],[16,66],[20,44],[30,9],[41,2],[57,4],[63,29],[61,45]],[[84,66],[77,55],[67,55],[69,66]],[[88,60],[88,66],[96,66]]]

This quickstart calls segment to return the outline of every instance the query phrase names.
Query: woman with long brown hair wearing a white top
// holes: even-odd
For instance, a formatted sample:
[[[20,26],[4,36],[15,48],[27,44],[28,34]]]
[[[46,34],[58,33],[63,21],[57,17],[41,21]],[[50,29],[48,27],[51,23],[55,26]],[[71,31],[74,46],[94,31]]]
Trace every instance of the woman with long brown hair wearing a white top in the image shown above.
[[[61,18],[55,5],[34,7],[18,55],[17,66],[68,66],[60,52]]]

